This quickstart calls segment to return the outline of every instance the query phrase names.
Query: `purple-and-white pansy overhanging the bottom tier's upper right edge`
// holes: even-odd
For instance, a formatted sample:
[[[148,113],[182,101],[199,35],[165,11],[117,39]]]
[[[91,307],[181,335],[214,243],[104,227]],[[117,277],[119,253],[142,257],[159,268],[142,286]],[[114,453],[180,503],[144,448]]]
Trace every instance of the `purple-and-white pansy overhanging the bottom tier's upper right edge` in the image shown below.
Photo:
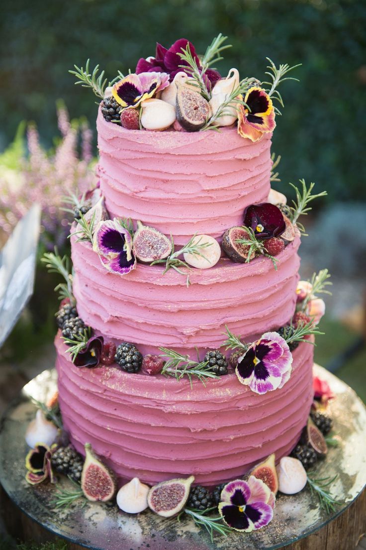
[[[289,380],[292,354],[286,340],[277,332],[266,332],[239,357],[235,369],[239,382],[252,392],[271,392]]]

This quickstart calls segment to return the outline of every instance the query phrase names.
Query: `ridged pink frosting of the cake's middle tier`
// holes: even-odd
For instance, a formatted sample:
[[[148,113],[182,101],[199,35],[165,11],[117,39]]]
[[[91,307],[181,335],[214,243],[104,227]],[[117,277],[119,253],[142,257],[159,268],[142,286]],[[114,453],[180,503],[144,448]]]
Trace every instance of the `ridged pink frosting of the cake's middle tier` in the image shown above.
[[[106,339],[133,342],[143,354],[158,347],[196,356],[220,348],[225,325],[251,342],[286,324],[295,311],[300,238],[276,256],[250,263],[221,258],[209,270],[174,270],[138,263],[126,276],[110,273],[90,243],[71,238],[74,294],[84,322]]]

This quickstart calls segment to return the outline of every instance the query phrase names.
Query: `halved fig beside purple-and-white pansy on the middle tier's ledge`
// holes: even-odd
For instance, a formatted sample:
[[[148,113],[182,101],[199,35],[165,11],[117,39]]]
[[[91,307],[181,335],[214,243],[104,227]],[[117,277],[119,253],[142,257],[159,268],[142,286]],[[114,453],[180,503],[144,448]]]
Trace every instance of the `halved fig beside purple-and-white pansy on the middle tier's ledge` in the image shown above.
[[[137,260],[142,263],[163,260],[171,253],[171,241],[157,229],[137,222],[132,251]]]

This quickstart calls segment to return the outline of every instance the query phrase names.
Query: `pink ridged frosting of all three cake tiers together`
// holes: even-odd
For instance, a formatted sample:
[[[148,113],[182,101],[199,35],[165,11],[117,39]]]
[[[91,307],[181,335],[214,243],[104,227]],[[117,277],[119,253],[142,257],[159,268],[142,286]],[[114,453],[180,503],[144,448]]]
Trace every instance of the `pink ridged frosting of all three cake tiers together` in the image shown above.
[[[241,225],[243,210],[267,200],[270,135],[251,142],[236,129],[220,133],[124,130],[97,119],[98,175],[110,217],[131,217],[184,244],[194,233],[218,240]],[[90,243],[71,239],[77,311],[107,340],[134,342],[142,354],[159,346],[203,356],[222,348],[225,325],[252,342],[295,311],[300,259],[297,236],[276,257],[233,263],[221,257],[193,270],[191,286],[174,270],[138,264],[127,276],[108,272]],[[244,474],[270,453],[288,454],[306,423],[313,346],[293,351],[291,378],[264,395],[234,371],[204,386],[188,379],[128,374],[115,367],[73,365],[58,336],[59,401],[71,441],[107,459],[121,480],[155,483],[195,475],[215,485]],[[117,366],[116,366],[117,367]]]

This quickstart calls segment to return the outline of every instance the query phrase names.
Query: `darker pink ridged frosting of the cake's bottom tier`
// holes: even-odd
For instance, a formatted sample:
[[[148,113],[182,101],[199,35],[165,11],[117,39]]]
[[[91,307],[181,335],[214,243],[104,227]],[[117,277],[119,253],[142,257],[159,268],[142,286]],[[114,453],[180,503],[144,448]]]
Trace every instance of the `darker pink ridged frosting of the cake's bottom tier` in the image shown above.
[[[234,372],[177,381],[127,374],[117,366],[77,368],[56,338],[59,403],[71,442],[89,442],[120,482],[154,484],[195,475],[213,486],[245,474],[271,453],[288,454],[306,425],[313,400],[313,346],[293,351],[281,389],[253,393]]]

